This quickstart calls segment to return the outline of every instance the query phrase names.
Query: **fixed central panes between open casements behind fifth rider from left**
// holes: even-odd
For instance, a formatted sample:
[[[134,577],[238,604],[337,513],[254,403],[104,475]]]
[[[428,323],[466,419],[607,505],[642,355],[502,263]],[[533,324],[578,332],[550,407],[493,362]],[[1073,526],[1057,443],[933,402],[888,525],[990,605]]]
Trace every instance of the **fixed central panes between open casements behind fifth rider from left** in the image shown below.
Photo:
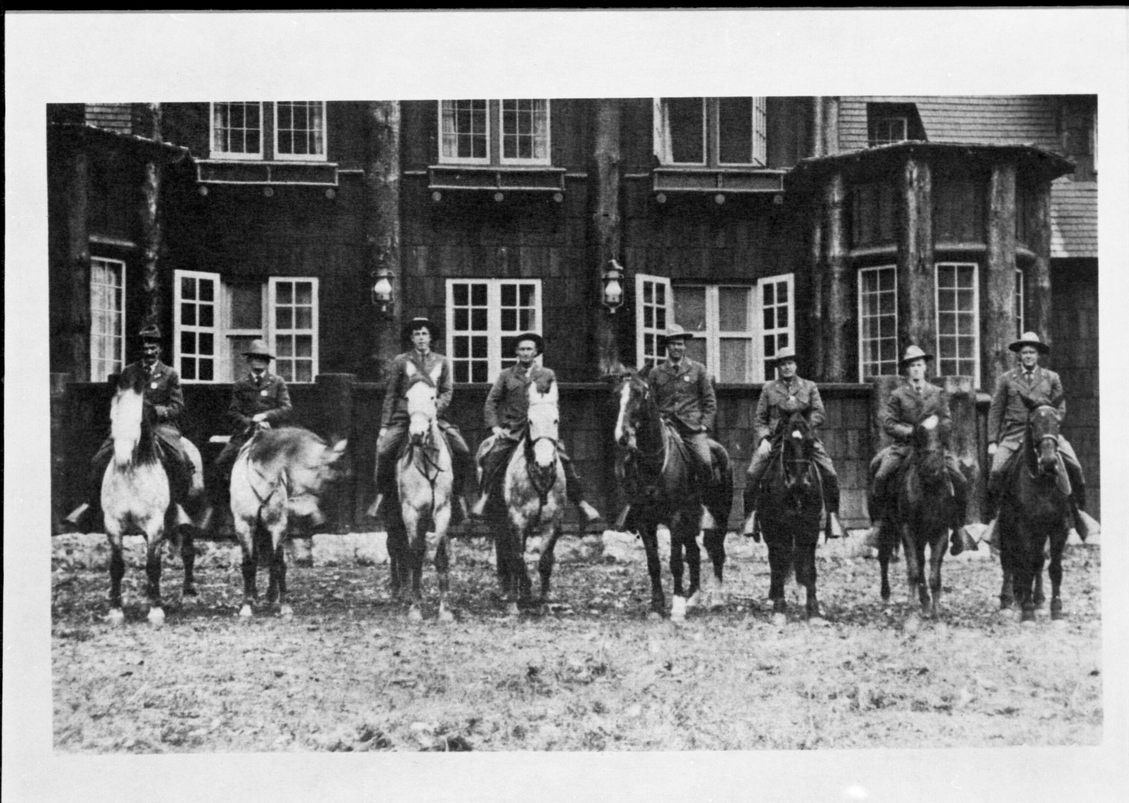
[[[741,285],[676,285],[674,320],[694,339],[686,355],[718,382],[759,381],[754,359],[755,288]]]

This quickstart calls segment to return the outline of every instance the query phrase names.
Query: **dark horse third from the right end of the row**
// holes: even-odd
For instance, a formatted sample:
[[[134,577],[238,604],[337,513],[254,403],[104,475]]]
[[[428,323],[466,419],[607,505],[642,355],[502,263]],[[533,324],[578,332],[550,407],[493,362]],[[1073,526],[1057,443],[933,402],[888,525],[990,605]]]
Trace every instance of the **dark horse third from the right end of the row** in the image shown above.
[[[796,582],[807,591],[807,616],[813,619],[821,616],[815,593],[815,547],[823,513],[823,489],[812,461],[814,445],[803,412],[780,419],[759,495],[760,527],[769,548],[772,612],[787,611],[784,586],[795,567]],[[746,498],[755,490],[746,488]],[[745,507],[750,509],[747,503]]]

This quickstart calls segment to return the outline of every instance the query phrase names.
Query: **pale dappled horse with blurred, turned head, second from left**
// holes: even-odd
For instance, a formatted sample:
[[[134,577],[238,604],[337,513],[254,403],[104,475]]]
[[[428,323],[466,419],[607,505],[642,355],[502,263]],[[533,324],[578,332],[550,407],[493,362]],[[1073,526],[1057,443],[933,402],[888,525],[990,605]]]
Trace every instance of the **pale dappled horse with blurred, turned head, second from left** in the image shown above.
[[[270,562],[266,600],[279,613],[292,614],[286,601],[283,538],[291,515],[323,521],[320,497],[338,477],[336,463],[348,442],[330,446],[301,427],[259,429],[243,445],[231,466],[231,517],[243,550],[243,606],[252,616],[260,559]]]

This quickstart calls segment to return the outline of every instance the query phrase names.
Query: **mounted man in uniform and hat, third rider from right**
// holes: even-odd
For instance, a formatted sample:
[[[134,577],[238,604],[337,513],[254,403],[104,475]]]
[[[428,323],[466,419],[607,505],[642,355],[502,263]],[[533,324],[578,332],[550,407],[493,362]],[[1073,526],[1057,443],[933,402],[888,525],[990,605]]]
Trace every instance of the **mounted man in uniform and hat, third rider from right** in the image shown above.
[[[777,369],[777,378],[765,383],[764,387],[761,389],[761,396],[756,402],[756,418],[753,422],[758,447],[745,475],[745,488],[747,489],[745,501],[750,507],[745,510],[744,532],[746,535],[752,535],[756,526],[756,495],[760,491],[764,471],[769,465],[772,436],[780,426],[780,421],[794,412],[803,412],[808,427],[814,433],[823,425],[825,418],[819,386],[811,379],[804,379],[796,375],[795,349],[780,349],[773,364]],[[830,536],[842,538],[843,529],[839,523],[839,474],[835,473],[835,466],[831,462],[831,455],[823,447],[823,442],[814,438],[812,446],[812,460],[819,468],[823,481],[823,504],[828,510]]]

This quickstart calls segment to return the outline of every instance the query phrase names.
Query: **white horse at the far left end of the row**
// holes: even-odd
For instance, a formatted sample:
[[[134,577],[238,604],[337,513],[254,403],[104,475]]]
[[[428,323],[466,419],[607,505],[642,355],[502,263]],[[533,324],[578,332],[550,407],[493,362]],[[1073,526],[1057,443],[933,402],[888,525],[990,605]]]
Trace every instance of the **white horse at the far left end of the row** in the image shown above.
[[[184,596],[194,596],[195,584],[192,568],[195,560],[192,531],[176,527],[175,521],[167,522],[169,509],[168,475],[160,463],[159,445],[148,420],[145,405],[145,375],[129,374],[119,377],[117,391],[110,404],[110,436],[113,440],[113,456],[102,479],[102,510],[110,539],[110,613],[112,625],[121,625],[122,577],[125,575],[125,559],[122,555],[122,539],[130,533],[145,535],[146,595],[149,602],[149,622],[159,627],[165,621],[160,597],[160,556],[165,544],[166,527],[172,525],[181,539],[181,556],[184,559]]]

